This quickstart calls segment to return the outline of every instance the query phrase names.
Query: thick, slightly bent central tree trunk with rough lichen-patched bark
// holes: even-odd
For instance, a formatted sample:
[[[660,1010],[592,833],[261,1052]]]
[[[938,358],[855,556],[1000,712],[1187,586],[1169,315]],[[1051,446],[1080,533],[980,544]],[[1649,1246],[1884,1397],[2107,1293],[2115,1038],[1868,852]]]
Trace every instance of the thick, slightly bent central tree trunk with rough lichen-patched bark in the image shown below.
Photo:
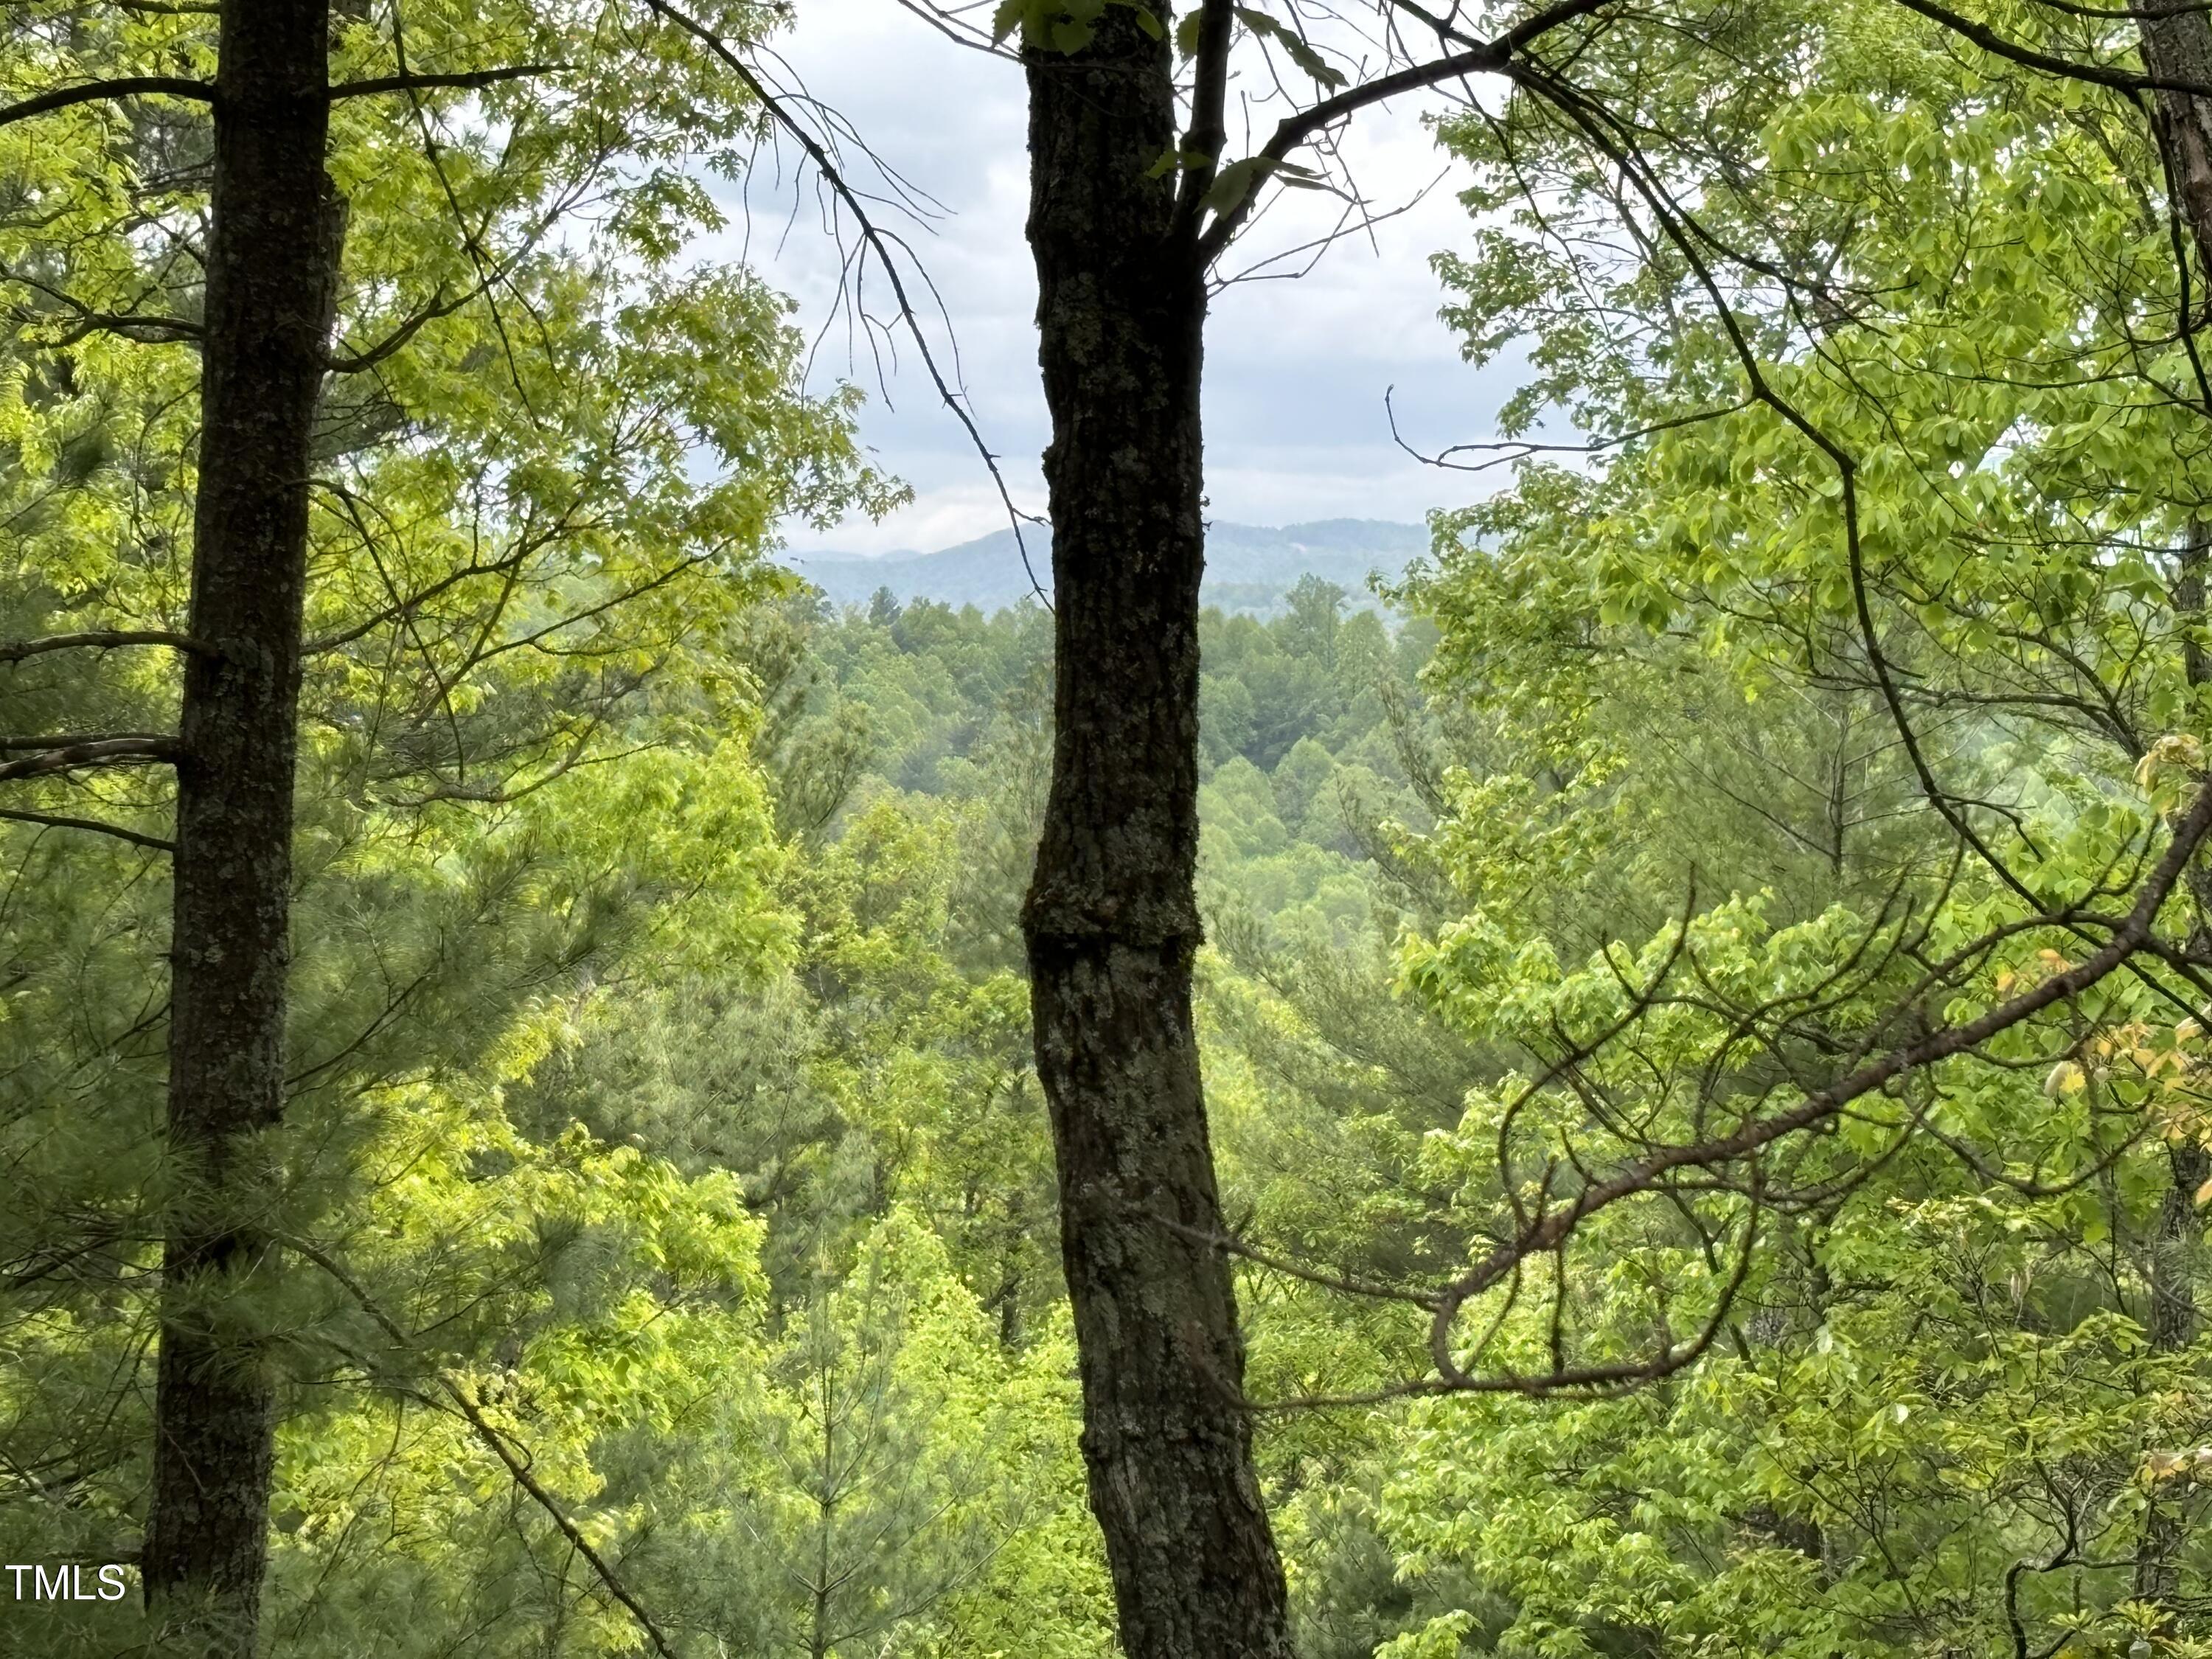
[[[1190,971],[1199,947],[1199,365],[1168,46],[1113,7],[1029,53],[1053,440],[1055,734],[1022,911],[1082,1352],[1084,1462],[1130,1659],[1287,1659],[1252,1471]]]

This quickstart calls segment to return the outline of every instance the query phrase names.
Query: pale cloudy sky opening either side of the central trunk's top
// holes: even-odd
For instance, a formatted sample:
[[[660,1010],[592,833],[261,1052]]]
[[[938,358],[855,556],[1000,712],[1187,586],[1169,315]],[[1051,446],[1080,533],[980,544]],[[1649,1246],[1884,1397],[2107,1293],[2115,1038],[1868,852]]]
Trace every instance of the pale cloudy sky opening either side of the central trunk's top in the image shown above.
[[[1042,511],[1037,453],[1046,440],[1035,361],[1035,276],[1022,241],[1026,212],[1024,88],[1015,64],[967,51],[896,0],[801,0],[779,49],[810,95],[838,111],[867,144],[945,212],[902,228],[933,281],[958,345],[960,380],[987,442],[1024,511]],[[1232,144],[1232,148],[1239,148]],[[1360,188],[1405,204],[1447,170],[1420,111],[1365,111],[1345,146]],[[790,161],[790,157],[785,157]],[[812,186],[763,164],[726,192],[730,230],[701,248],[745,257],[799,301],[821,334],[816,385],[865,387],[860,440],[876,465],[914,489],[914,504],[880,524],[849,518],[830,531],[792,526],[796,553],[936,551],[1002,529],[998,493],[967,434],[938,403],[909,341],[896,341],[878,380],[876,358],[838,305],[838,252]],[[1325,226],[1334,204],[1290,192],[1230,270],[1294,246]],[[1400,431],[1425,449],[1484,438],[1511,392],[1511,372],[1471,369],[1438,321],[1444,294],[1429,270],[1440,248],[1467,241],[1453,177],[1407,212],[1343,241],[1298,281],[1232,285],[1214,301],[1206,365],[1206,487],[1210,513],[1241,524],[1316,518],[1420,522],[1491,484],[1422,467],[1391,442],[1385,389],[1396,387]],[[938,327],[945,343],[945,327]],[[940,358],[945,361],[945,358]]]

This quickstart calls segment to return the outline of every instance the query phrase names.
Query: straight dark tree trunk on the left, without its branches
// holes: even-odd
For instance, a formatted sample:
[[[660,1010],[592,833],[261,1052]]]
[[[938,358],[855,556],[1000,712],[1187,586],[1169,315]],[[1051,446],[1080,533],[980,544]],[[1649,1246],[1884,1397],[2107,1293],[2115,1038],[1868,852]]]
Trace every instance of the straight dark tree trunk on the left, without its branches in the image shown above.
[[[252,1655],[276,1385],[257,1329],[283,1113],[307,442],[343,208],[323,175],[325,0],[223,0],[170,945],[146,1601],[168,1650]]]

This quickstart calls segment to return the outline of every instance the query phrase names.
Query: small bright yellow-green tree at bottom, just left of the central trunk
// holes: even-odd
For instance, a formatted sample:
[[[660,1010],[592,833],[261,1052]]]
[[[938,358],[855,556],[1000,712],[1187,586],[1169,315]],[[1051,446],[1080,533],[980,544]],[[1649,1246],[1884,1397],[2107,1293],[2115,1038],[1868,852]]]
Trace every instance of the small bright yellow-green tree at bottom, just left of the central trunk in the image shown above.
[[[1073,1449],[1018,1418],[1055,1358],[1066,1365],[1064,1338],[1031,1356],[993,1343],[945,1245],[894,1208],[852,1270],[792,1310],[761,1396],[721,1427],[737,1455],[701,1506],[712,1522],[699,1546],[717,1564],[708,1584],[728,1588],[706,1624],[794,1659],[945,1639],[1062,1500],[1053,1464]],[[684,1566],[697,1577],[697,1555]],[[670,1586],[688,1599],[703,1588]],[[1026,1608],[1022,1639],[1060,1648],[1082,1599]]]

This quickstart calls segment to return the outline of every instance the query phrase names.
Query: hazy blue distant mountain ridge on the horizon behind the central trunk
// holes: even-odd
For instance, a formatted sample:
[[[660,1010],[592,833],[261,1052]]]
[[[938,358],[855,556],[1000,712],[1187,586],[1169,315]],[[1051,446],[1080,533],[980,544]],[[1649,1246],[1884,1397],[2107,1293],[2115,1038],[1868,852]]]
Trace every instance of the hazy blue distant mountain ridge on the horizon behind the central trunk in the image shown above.
[[[1037,582],[1053,588],[1053,535],[1024,531]],[[1367,602],[1367,573],[1396,577],[1429,551],[1420,524],[1389,524],[1369,518],[1329,518],[1318,524],[1212,524],[1206,533],[1206,604],[1223,611],[1274,615],[1301,575],[1334,582],[1354,604]],[[898,599],[938,599],[1002,611],[1022,599],[1029,573],[1022,568],[1013,531],[995,531],[940,553],[807,553],[790,560],[807,582],[834,604],[867,604],[878,588]]]

